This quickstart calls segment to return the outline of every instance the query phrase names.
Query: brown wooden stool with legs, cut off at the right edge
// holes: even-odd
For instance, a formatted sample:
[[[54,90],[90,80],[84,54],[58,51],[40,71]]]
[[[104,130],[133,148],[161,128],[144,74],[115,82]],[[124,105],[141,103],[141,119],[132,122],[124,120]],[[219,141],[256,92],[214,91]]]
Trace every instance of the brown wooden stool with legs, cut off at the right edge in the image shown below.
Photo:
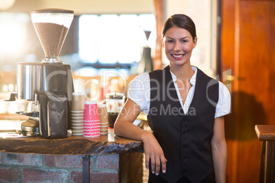
[[[259,182],[275,182],[275,125],[256,125],[255,132],[259,141],[263,141]]]

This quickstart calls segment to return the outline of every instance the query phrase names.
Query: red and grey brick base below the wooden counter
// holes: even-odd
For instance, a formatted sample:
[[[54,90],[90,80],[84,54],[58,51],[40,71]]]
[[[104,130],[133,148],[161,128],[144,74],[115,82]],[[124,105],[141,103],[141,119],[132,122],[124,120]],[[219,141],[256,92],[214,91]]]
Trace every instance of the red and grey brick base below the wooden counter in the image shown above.
[[[90,156],[90,182],[119,182],[119,157]],[[0,152],[0,182],[83,182],[83,156]]]

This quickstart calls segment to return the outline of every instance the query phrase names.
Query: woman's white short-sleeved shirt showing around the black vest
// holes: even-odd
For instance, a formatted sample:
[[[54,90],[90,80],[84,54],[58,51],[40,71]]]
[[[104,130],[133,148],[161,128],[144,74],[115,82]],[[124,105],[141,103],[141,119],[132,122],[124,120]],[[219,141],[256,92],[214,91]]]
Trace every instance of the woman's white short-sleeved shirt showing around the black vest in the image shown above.
[[[192,87],[189,89],[184,104],[182,100],[179,100],[181,102],[181,107],[183,108],[185,114],[187,113],[189,106],[192,102],[196,87],[197,68],[192,67],[192,69],[195,72],[190,79]],[[178,98],[181,98],[181,95],[179,93],[179,87],[175,83],[176,76],[171,72],[171,70],[170,73],[172,76],[174,87],[176,88],[176,94],[178,95]],[[215,118],[226,115],[230,113],[231,110],[230,92],[223,83],[221,83],[220,81],[218,83],[219,99],[215,109]],[[146,115],[148,115],[150,109],[150,76],[148,72],[144,72],[136,76],[135,79],[131,81],[127,97],[133,100],[133,102],[135,102],[136,104],[138,104],[140,106],[140,109],[142,109],[142,111],[145,111]]]

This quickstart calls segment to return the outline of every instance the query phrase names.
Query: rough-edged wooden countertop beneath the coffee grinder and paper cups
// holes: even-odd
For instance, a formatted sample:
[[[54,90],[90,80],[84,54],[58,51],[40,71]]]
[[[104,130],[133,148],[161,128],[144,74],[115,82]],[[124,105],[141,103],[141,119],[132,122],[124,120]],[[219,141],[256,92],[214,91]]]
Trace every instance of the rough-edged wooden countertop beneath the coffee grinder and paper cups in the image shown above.
[[[144,150],[141,141],[117,137],[114,135],[114,129],[109,129],[108,136],[99,137],[70,136],[66,139],[46,139],[42,137],[0,139],[0,152],[52,155],[96,155],[144,152]]]

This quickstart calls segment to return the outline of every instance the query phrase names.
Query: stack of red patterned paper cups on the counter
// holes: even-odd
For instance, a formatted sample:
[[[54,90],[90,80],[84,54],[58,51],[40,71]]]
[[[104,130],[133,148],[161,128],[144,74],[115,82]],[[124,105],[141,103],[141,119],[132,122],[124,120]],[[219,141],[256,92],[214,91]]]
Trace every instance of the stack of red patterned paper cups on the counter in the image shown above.
[[[99,111],[96,102],[86,101],[83,113],[83,136],[99,136]]]

